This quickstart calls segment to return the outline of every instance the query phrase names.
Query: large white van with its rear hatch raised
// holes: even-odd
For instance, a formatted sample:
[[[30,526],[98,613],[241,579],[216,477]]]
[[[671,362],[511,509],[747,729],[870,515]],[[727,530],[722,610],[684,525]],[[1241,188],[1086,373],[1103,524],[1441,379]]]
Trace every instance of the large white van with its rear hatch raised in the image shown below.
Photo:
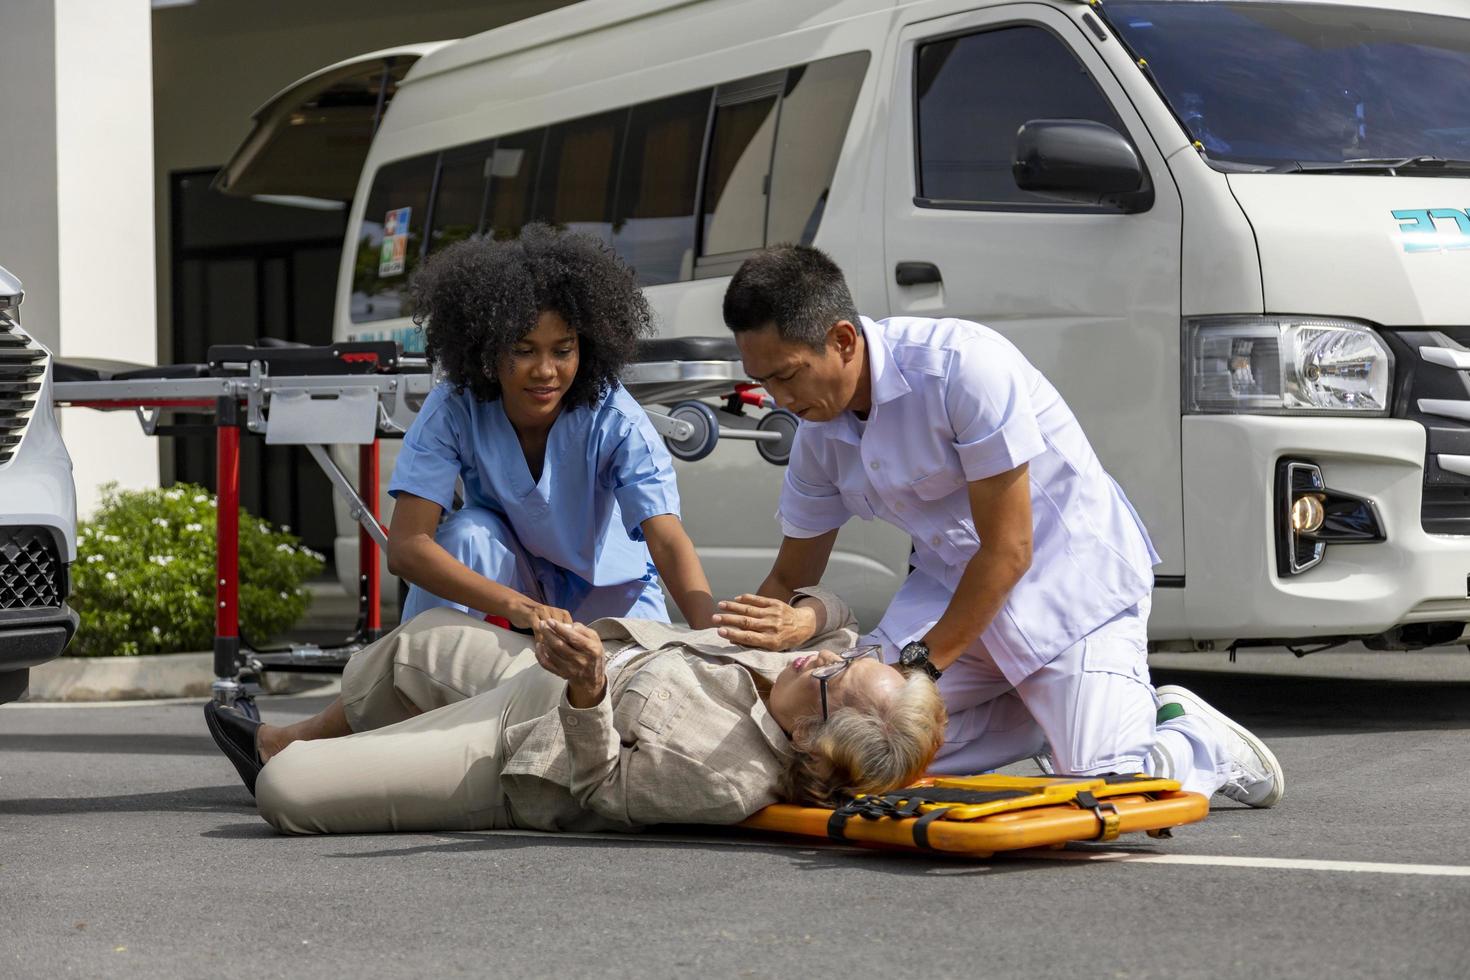
[[[409,276],[470,235],[601,235],[666,336],[811,242],[864,313],[988,323],[1051,378],[1163,555],[1155,644],[1416,648],[1470,620],[1466,15],[585,0],[304,79],[220,184],[350,197],[337,336],[409,347]],[[717,592],[767,572],[781,476],[681,464]],[[907,554],[854,520],[829,582],[872,623]]]

